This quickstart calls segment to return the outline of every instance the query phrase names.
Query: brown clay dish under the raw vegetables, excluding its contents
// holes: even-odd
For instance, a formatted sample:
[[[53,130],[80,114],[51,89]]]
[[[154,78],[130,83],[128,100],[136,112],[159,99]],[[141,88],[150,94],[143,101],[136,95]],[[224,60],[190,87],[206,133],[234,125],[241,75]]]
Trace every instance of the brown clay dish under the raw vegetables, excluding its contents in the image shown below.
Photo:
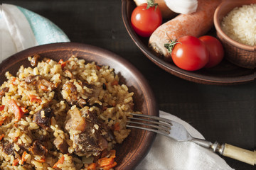
[[[127,29],[130,37],[135,45],[146,55],[146,57],[154,62],[158,67],[164,69],[166,72],[173,74],[176,77],[193,81],[200,84],[215,84],[215,85],[233,85],[244,84],[253,81],[256,77],[255,69],[246,69],[232,64],[228,60],[223,60],[217,67],[210,69],[200,69],[194,72],[176,67],[174,63],[169,63],[161,59],[148,47],[149,38],[142,38],[137,35],[131,26],[132,11],[136,7],[133,0],[122,0],[122,19],[124,26]],[[216,36],[216,30],[213,28],[209,30],[207,35]]]

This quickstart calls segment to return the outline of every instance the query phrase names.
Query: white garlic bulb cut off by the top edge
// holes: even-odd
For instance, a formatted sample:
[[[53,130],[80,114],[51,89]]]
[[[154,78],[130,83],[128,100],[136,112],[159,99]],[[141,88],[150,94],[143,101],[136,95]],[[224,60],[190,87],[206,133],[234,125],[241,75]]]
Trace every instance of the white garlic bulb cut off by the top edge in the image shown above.
[[[168,6],[171,11],[176,13],[193,13],[196,12],[196,8],[198,6],[197,0],[164,0],[166,2],[166,6]]]

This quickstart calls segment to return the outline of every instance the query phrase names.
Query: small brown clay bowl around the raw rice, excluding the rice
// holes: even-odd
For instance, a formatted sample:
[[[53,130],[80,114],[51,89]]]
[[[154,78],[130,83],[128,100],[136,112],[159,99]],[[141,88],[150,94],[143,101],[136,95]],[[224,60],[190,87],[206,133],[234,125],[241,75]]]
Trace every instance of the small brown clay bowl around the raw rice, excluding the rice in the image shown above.
[[[244,45],[240,42],[236,42],[226,35],[221,29],[221,22],[223,17],[226,16],[235,7],[242,5],[255,4],[255,0],[247,1],[223,1],[214,13],[214,26],[217,30],[217,36],[223,43],[225,48],[225,58],[238,65],[247,69],[255,69],[256,67],[256,46]]]

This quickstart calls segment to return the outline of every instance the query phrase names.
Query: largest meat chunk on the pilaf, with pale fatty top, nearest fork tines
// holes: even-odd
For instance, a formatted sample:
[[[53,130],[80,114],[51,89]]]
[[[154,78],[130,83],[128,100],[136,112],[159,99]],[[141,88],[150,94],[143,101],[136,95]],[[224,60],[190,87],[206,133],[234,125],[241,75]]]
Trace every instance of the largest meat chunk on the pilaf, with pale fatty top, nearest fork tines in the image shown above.
[[[96,113],[89,111],[89,107],[84,107],[80,111],[75,108],[69,111],[69,114],[73,114],[73,117],[68,115],[65,128],[70,133],[70,139],[73,139],[75,154],[80,157],[90,154],[97,156],[107,148],[107,140],[105,138],[107,136],[103,136],[102,132],[108,133],[109,130],[106,131],[105,128],[102,128],[103,125],[97,118]],[[75,115],[77,115],[77,120],[74,122]],[[77,122],[78,120],[80,120],[80,123]],[[73,122],[71,123],[71,121]],[[81,128],[79,124],[82,124],[82,132],[74,133],[72,130]]]

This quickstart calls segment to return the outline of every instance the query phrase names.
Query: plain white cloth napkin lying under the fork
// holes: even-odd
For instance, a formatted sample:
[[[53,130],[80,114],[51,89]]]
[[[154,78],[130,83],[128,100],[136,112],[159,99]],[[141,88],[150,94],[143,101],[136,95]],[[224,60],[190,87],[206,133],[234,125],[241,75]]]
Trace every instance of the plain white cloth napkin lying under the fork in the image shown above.
[[[174,115],[160,111],[160,117],[181,123],[193,137],[204,139],[203,135],[188,123]],[[174,170],[228,170],[230,166],[210,149],[203,148],[193,142],[176,142],[169,137],[156,135],[156,140],[149,154],[137,166],[137,170],[144,169],[174,169]]]

